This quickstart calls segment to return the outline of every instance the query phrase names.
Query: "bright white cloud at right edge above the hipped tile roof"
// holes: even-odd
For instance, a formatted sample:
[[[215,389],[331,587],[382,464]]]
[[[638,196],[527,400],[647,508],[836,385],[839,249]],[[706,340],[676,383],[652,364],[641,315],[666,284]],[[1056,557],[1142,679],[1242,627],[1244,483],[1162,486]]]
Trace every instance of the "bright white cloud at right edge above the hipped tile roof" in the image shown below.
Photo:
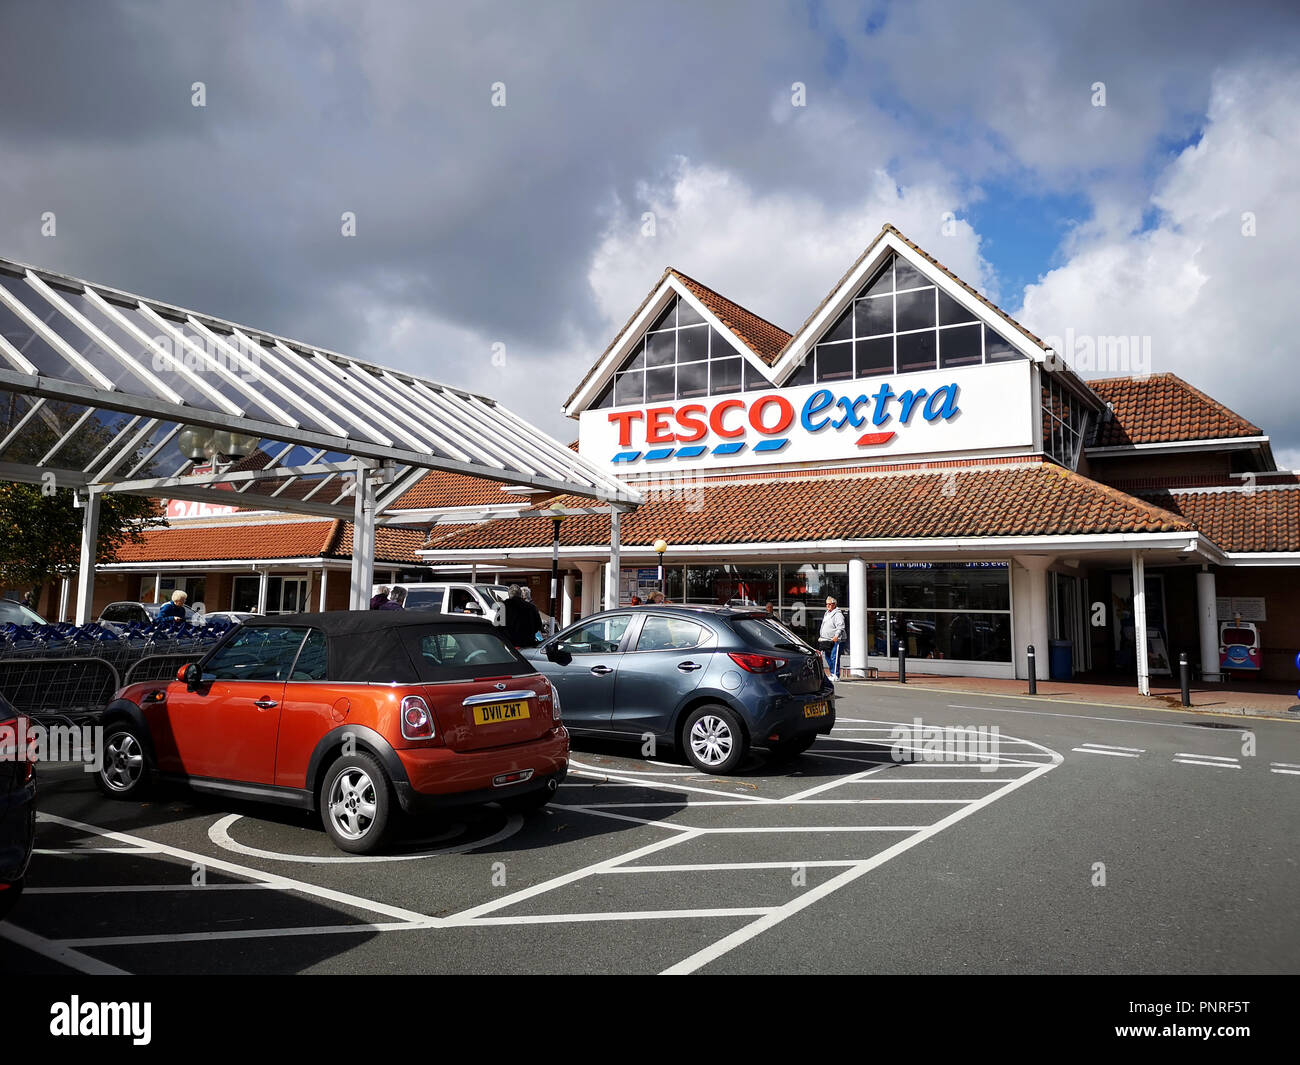
[[[1300,69],[1219,72],[1202,138],[1150,203],[1150,229],[1076,234],[1067,261],[1026,289],[1019,317],[1040,335],[1150,337],[1154,372],[1178,373],[1295,455]]]

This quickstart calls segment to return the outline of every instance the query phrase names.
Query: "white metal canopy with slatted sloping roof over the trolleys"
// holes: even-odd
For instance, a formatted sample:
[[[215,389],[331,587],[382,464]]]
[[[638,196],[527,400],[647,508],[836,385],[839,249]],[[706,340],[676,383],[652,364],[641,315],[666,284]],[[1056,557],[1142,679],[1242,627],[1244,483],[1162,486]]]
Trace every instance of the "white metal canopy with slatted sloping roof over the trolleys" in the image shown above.
[[[103,493],[354,521],[356,607],[376,525],[436,469],[641,501],[488,397],[0,259],[0,479],[84,505],[78,622]]]

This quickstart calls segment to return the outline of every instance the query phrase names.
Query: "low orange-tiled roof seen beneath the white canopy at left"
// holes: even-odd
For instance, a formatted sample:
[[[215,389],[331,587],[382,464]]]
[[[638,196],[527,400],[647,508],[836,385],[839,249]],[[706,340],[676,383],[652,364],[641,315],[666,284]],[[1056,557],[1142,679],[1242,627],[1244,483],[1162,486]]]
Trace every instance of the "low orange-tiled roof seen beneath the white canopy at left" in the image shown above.
[[[410,529],[376,529],[374,557],[384,562],[415,562],[422,540],[421,533]],[[147,529],[143,544],[126,544],[117,553],[118,562],[351,557],[352,524],[333,520]]]

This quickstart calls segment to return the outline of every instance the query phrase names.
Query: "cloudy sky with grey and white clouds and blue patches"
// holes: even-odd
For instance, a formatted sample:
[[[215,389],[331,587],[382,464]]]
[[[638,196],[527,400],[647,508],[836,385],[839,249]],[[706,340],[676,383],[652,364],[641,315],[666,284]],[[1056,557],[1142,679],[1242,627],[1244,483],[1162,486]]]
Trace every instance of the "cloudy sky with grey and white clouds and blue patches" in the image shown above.
[[[794,329],[889,221],[1300,466],[1297,57],[1282,0],[5,0],[0,255],[569,440],[664,267]]]

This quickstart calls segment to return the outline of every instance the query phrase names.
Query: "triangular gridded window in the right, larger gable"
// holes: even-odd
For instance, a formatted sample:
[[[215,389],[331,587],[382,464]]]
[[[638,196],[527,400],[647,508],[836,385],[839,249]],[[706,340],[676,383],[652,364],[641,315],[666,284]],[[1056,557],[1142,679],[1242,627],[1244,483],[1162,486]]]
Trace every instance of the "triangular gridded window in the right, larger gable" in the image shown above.
[[[890,256],[786,382],[954,369],[1022,359],[910,263]]]

